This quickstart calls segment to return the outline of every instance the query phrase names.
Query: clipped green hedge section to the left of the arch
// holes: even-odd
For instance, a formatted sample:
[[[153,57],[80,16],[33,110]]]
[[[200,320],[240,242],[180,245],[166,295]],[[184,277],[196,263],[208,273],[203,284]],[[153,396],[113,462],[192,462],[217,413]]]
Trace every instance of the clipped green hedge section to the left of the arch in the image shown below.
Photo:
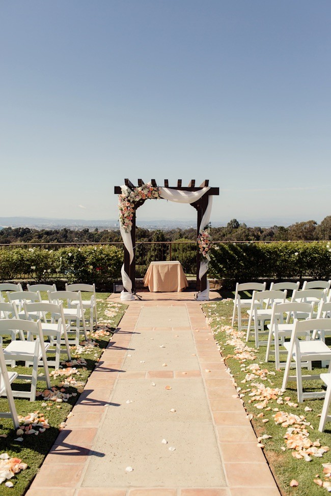
[[[121,277],[123,250],[115,246],[86,246],[45,250],[16,248],[0,250],[0,281],[32,279],[48,282],[64,278],[68,282],[96,285]]]

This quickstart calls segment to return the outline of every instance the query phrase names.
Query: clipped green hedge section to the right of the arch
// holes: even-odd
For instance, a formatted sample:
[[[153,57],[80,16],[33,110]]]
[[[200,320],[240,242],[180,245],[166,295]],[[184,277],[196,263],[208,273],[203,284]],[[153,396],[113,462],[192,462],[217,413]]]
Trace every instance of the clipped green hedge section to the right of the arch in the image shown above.
[[[216,279],[329,279],[331,244],[316,241],[219,243],[210,252],[209,276]]]

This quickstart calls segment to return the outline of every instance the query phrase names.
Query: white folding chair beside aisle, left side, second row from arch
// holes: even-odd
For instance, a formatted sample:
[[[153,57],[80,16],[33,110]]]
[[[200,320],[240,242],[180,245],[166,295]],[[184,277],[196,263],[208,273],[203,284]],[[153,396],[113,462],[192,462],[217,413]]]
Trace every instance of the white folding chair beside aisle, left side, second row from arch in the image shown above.
[[[66,322],[70,324],[70,331],[76,333],[76,345],[79,344],[79,334],[83,333],[85,339],[88,339],[86,323],[85,323],[85,308],[83,308],[81,301],[80,291],[47,291],[48,299],[50,303],[60,304],[61,301],[66,302],[67,307],[63,307],[63,314]],[[78,301],[78,303],[71,307],[72,301]],[[71,323],[75,322],[75,326]]]

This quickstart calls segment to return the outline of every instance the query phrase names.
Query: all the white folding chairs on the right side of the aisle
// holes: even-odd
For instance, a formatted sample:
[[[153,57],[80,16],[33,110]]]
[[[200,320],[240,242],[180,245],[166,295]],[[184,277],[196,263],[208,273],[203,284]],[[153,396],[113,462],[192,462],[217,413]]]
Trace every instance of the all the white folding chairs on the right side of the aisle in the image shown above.
[[[285,284],[287,287],[283,285],[276,291],[266,291],[263,286],[257,288],[260,290],[253,289],[250,309],[247,310],[249,326],[246,339],[249,339],[251,323],[254,321],[255,344],[257,347],[261,344],[267,345],[266,361],[269,360],[270,354],[274,353],[275,368],[280,370],[285,366],[282,390],[286,390],[289,381],[296,381],[299,402],[308,398],[325,398],[319,423],[319,430],[323,431],[326,422],[331,422],[331,415],[328,415],[331,402],[331,349],[325,344],[325,335],[331,334],[331,295],[327,296],[327,286],[307,289],[306,285],[306,289],[299,290],[298,286],[288,286],[293,283]],[[292,290],[291,301],[286,299],[288,289]],[[238,311],[239,309],[240,303]],[[266,326],[265,331],[267,320],[270,320],[270,324]],[[260,340],[260,335],[265,332],[268,339],[264,343]],[[286,340],[288,338],[289,340]],[[272,344],[274,350],[271,350]],[[281,346],[284,347],[283,350],[280,349]],[[281,353],[287,355],[286,362],[280,362]],[[322,367],[327,367],[328,372],[314,374],[313,362],[316,361],[320,361]],[[295,368],[293,375],[290,375],[291,368]],[[303,368],[307,369],[305,375],[302,374]],[[322,380],[327,386],[326,392],[304,392],[303,381],[306,380]]]

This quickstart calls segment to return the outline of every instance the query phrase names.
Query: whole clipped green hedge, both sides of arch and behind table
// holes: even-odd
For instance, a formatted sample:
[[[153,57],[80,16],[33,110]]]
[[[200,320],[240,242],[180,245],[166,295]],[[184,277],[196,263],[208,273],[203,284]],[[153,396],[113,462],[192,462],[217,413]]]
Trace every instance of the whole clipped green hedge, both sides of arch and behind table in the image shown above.
[[[191,245],[185,245],[184,250],[176,249],[173,249],[172,259],[179,259],[186,272],[193,272],[196,251]],[[163,259],[167,257],[166,254]],[[330,242],[215,243],[210,257],[209,276],[216,279],[331,278]],[[145,252],[144,258],[148,264],[157,256],[148,256]],[[0,250],[0,281],[29,278],[48,282],[63,278],[68,282],[95,282],[102,286],[121,278],[122,263],[123,250],[106,245],[56,251],[38,248]],[[144,272],[146,268],[147,265]],[[136,274],[137,277],[142,275]]]

